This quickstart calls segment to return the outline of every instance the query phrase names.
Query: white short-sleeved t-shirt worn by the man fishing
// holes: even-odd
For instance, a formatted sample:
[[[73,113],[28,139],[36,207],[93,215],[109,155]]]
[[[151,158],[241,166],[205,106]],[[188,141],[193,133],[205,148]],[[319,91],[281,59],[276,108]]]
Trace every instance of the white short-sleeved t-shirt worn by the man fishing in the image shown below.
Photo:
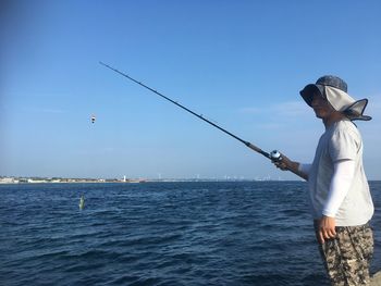
[[[336,226],[366,224],[373,215],[374,208],[362,166],[361,136],[348,120],[334,123],[320,137],[308,174],[314,219],[318,220],[322,216],[334,163],[340,160],[353,160],[355,173],[349,190],[335,215]]]

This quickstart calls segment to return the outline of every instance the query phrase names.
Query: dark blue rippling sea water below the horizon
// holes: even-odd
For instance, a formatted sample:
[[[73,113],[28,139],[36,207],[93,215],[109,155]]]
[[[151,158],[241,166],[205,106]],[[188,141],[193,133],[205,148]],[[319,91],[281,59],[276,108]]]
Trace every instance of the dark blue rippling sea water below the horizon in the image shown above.
[[[376,272],[381,182],[370,186]],[[0,185],[0,285],[328,285],[306,187]]]

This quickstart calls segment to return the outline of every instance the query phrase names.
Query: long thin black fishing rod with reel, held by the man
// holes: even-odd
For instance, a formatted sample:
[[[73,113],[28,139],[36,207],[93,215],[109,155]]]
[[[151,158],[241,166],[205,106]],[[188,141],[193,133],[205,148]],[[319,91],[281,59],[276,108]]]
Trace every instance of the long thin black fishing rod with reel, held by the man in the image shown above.
[[[279,161],[282,160],[281,153],[280,153],[279,151],[273,150],[273,151],[271,151],[270,153],[269,153],[269,152],[266,152],[266,151],[263,151],[262,149],[260,149],[259,147],[255,146],[254,144],[250,144],[249,141],[246,141],[246,140],[239,138],[238,136],[236,136],[236,135],[232,134],[231,132],[229,132],[229,130],[222,128],[221,126],[217,125],[216,123],[213,123],[213,122],[211,122],[211,121],[205,119],[202,115],[197,114],[196,112],[194,112],[194,111],[192,111],[190,109],[188,109],[188,108],[186,108],[186,107],[180,104],[179,102],[176,102],[176,101],[170,99],[169,97],[165,97],[164,95],[160,94],[159,91],[155,90],[153,88],[150,88],[149,86],[147,86],[147,85],[145,85],[145,84],[143,84],[143,83],[140,83],[140,82],[134,79],[134,78],[131,77],[130,75],[126,75],[125,73],[122,73],[121,71],[119,71],[119,70],[116,70],[116,69],[114,69],[114,67],[112,67],[112,66],[110,66],[109,64],[106,64],[106,63],[103,63],[103,62],[99,62],[99,63],[100,63],[101,65],[103,65],[103,66],[110,69],[111,71],[114,71],[115,73],[118,73],[118,74],[120,74],[120,75],[122,75],[122,76],[128,78],[130,80],[132,80],[132,82],[138,84],[139,86],[143,86],[144,88],[146,88],[146,89],[152,91],[153,94],[158,95],[159,97],[161,97],[161,98],[163,98],[163,99],[165,99],[165,100],[172,102],[173,104],[175,104],[175,105],[177,105],[179,108],[181,108],[181,109],[183,109],[183,110],[189,112],[190,114],[193,114],[193,115],[195,115],[196,117],[198,117],[198,119],[205,121],[206,123],[208,123],[208,124],[214,126],[216,128],[218,128],[218,129],[220,129],[221,132],[228,134],[229,136],[233,137],[234,139],[236,139],[236,140],[243,142],[244,145],[246,145],[246,146],[247,146],[248,148],[250,148],[251,150],[254,150],[254,151],[256,151],[256,152],[262,154],[262,156],[266,157],[267,159],[270,159],[270,160],[273,161],[273,162],[279,162]],[[295,172],[292,171],[292,172],[293,172],[294,174],[298,175],[298,176],[302,176],[300,173],[298,173],[297,171],[295,171]],[[304,176],[302,176],[302,177],[305,178]]]

